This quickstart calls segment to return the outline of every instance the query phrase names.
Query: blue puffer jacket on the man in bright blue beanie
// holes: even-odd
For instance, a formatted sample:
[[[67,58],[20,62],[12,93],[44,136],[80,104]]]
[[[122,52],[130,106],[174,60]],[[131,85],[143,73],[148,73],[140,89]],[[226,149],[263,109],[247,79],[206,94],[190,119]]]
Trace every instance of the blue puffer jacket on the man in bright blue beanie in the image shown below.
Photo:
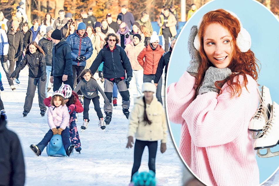
[[[69,35],[66,39],[69,43],[70,48],[72,50],[72,65],[83,66],[86,65],[86,60],[82,62],[78,62],[76,59],[78,56],[84,56],[86,59],[90,58],[92,55],[93,47],[92,42],[89,37],[87,37],[87,33],[85,32],[83,37],[77,33],[77,30]]]

